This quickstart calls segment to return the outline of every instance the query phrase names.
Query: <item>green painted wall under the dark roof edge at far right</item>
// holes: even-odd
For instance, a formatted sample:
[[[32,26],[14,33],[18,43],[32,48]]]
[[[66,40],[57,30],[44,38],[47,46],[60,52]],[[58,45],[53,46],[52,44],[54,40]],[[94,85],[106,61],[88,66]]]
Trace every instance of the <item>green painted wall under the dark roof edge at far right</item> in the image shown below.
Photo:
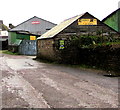
[[[104,23],[115,29],[116,31],[120,32],[120,10],[118,10],[115,14],[107,18]]]

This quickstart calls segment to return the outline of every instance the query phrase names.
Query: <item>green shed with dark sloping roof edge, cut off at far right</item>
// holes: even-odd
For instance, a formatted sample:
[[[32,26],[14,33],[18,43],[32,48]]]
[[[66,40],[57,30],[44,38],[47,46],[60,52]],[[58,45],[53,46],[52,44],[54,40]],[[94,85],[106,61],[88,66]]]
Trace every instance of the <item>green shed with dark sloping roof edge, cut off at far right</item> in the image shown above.
[[[120,33],[120,8],[105,17],[102,22]]]

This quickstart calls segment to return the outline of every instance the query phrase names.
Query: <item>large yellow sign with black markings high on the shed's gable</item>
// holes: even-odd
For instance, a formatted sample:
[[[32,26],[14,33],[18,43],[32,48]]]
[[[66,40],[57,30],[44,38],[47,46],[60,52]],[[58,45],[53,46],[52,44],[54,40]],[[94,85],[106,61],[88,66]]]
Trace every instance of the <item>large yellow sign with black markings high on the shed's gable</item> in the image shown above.
[[[97,25],[97,19],[78,19],[78,25]]]

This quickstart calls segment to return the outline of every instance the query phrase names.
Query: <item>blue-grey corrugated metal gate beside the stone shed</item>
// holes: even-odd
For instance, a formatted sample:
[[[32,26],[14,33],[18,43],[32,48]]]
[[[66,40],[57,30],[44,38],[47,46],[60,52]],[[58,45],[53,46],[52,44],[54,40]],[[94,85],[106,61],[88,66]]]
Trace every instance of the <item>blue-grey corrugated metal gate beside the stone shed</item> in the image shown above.
[[[19,46],[22,55],[36,55],[36,40],[23,40]]]

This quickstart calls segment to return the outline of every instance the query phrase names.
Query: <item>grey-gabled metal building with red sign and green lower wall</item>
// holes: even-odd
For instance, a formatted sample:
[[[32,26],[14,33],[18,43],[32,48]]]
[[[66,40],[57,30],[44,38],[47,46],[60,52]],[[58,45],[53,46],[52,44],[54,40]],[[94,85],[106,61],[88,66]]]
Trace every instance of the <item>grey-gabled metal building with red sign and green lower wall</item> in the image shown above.
[[[9,50],[25,55],[36,55],[36,38],[55,25],[36,16],[28,19],[9,30]]]

